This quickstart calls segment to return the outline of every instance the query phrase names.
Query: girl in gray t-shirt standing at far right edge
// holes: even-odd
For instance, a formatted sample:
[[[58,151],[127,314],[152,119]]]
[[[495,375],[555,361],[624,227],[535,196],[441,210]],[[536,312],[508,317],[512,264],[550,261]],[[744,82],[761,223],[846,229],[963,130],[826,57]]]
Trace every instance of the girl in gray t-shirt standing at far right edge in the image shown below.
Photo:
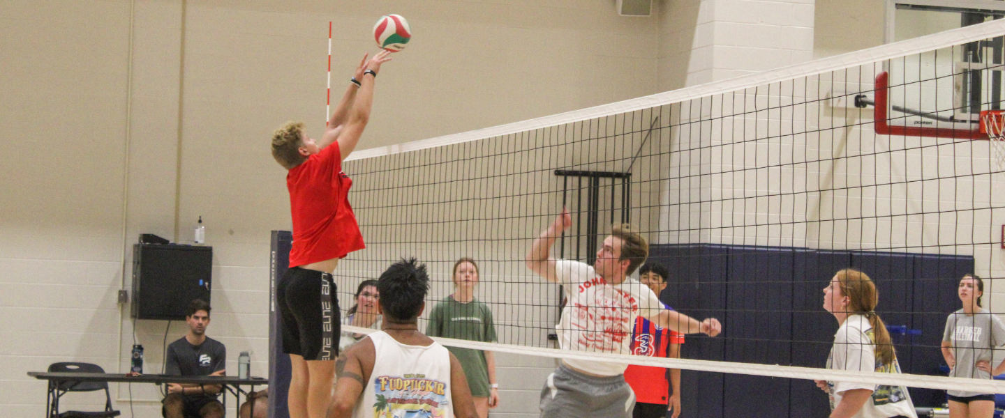
[[[992,352],[1005,344],[1005,325],[998,316],[981,308],[984,282],[976,275],[966,275],[957,290],[963,309],[949,314],[942,352],[950,367],[950,377],[991,379],[1005,372],[1005,361],[992,370]],[[950,415],[966,418],[991,418],[995,395],[967,391],[949,391]]]

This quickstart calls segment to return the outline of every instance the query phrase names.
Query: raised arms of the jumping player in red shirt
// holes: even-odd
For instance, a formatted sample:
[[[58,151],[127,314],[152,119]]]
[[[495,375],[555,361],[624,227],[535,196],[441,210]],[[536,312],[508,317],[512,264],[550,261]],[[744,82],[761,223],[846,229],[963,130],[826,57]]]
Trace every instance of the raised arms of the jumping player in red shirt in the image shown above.
[[[381,51],[367,62],[366,69],[364,69],[363,75],[361,75],[362,79],[359,80],[361,84],[360,91],[356,93],[348,115],[345,116],[345,122],[338,124],[335,128],[328,129],[320,141],[319,145],[338,141],[339,152],[343,160],[353,152],[353,149],[356,149],[356,144],[359,143],[360,137],[363,135],[363,129],[367,127],[367,123],[370,121],[370,109],[373,107],[374,101],[374,82],[377,79],[377,73],[380,72],[381,64],[391,60],[388,57],[389,54],[390,52],[386,50]],[[349,88],[353,87],[350,86]],[[342,103],[340,103],[341,105]],[[337,117],[341,117],[338,109],[332,114],[333,119]],[[331,127],[331,123],[329,125]]]

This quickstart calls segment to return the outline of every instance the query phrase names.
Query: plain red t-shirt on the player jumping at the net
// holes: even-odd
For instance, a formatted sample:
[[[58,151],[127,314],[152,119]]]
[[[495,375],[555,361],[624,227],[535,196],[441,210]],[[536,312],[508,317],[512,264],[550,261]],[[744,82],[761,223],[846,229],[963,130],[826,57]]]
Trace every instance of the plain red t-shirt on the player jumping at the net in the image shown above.
[[[289,267],[332,259],[363,250],[363,236],[349,205],[353,180],[342,172],[339,143],[326,146],[286,174],[293,244]]]

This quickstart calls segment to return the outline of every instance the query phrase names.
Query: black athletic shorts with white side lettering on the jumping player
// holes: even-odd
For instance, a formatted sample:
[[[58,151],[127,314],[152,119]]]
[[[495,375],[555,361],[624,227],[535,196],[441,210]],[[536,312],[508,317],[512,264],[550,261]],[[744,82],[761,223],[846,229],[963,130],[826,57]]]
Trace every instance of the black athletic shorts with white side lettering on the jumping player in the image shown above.
[[[282,319],[282,352],[305,360],[335,360],[342,326],[335,281],[329,273],[286,270],[275,289]]]

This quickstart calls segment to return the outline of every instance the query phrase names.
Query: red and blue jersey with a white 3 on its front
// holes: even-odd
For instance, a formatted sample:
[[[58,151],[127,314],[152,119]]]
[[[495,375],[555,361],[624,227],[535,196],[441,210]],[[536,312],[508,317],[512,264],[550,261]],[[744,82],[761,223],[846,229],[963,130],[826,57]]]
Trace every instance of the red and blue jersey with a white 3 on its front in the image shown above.
[[[645,318],[635,318],[631,354],[665,358],[670,344],[683,343],[682,334],[657,327]],[[670,382],[667,381],[665,368],[628,365],[628,369],[625,369],[625,382],[635,392],[636,402],[661,405],[669,402],[667,396],[670,393]]]

